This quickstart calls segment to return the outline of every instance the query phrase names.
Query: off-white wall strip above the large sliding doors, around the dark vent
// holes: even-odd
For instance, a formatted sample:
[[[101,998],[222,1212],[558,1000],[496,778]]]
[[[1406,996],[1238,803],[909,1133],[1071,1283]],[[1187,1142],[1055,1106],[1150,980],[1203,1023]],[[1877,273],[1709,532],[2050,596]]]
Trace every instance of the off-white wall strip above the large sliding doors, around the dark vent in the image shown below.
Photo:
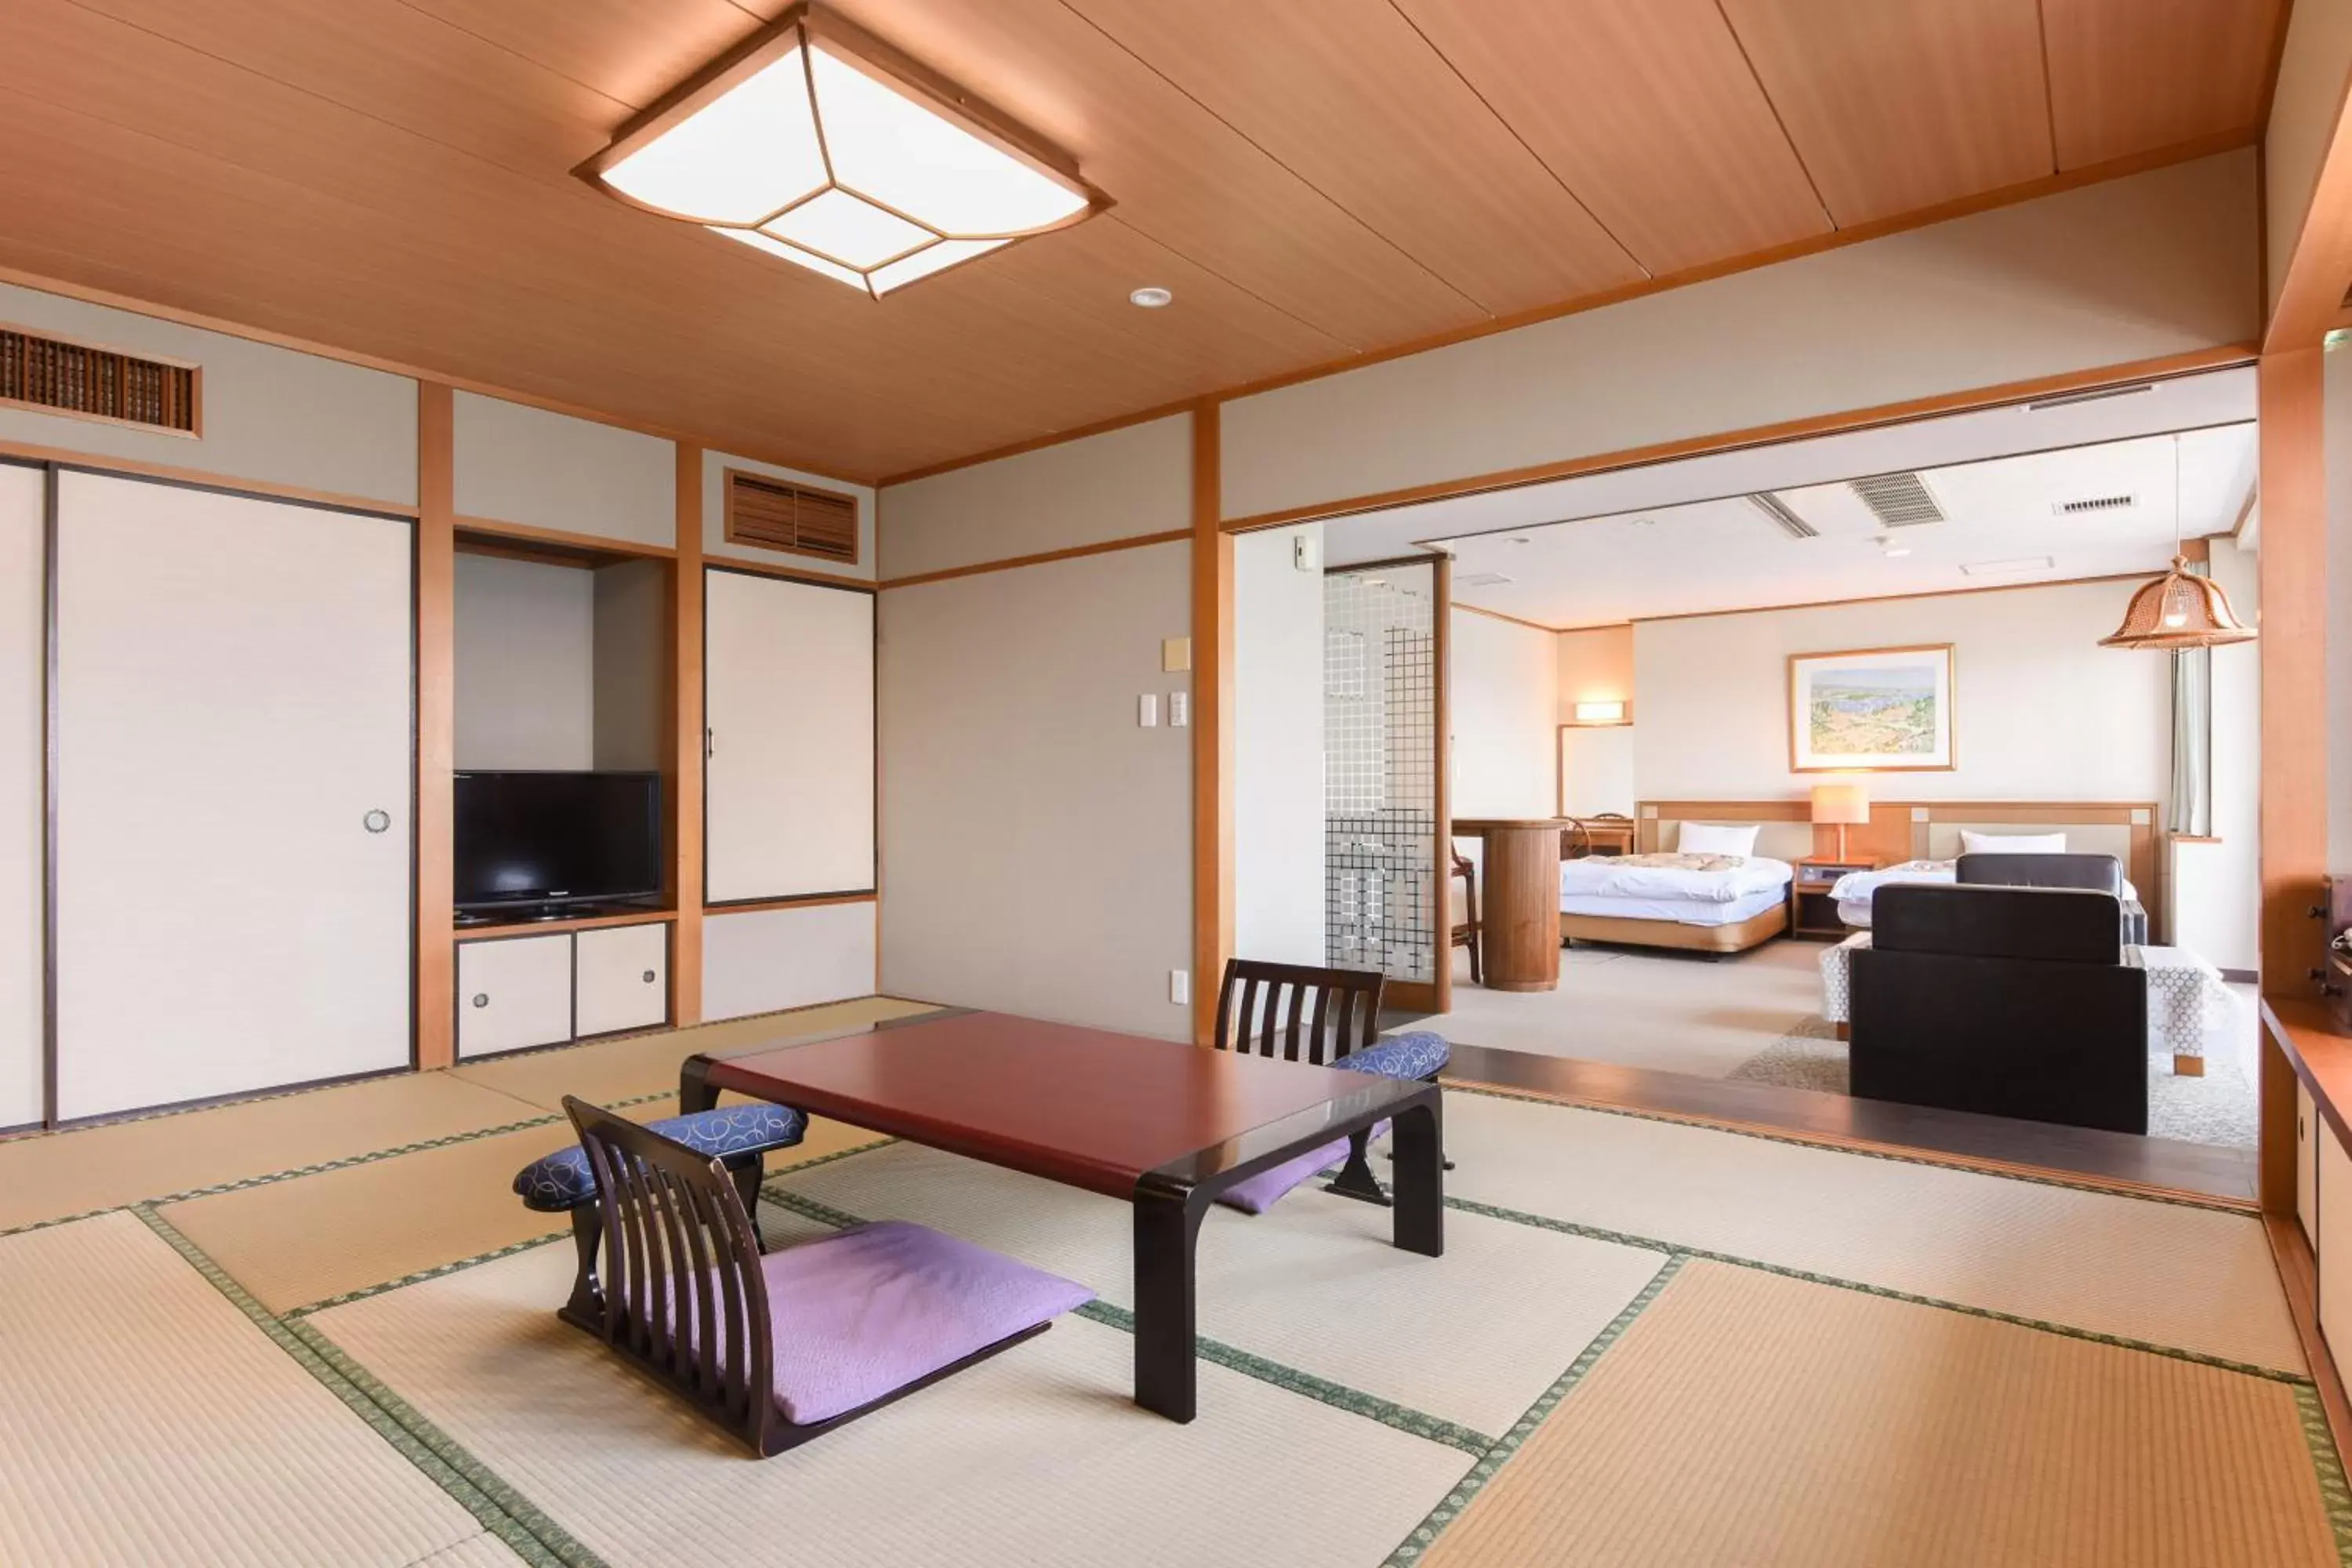
[[[0,442],[416,505],[416,383],[341,360],[0,284],[0,322],[202,367],[198,440],[0,407]]]

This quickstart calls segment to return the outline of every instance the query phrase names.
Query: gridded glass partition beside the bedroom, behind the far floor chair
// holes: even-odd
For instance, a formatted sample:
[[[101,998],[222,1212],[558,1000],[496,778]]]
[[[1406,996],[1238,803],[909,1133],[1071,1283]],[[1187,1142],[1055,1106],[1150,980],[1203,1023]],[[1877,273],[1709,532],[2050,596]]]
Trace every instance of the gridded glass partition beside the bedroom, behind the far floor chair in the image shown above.
[[[1437,978],[1430,564],[1324,574],[1324,957]]]

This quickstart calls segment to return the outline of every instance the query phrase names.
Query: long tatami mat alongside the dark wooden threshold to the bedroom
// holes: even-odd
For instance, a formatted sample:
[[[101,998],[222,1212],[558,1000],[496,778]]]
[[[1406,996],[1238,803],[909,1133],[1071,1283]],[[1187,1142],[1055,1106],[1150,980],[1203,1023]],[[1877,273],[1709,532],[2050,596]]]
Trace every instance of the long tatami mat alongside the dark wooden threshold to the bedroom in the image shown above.
[[[2260,1220],[1675,1121],[1446,1095],[1446,1194],[2303,1371]]]

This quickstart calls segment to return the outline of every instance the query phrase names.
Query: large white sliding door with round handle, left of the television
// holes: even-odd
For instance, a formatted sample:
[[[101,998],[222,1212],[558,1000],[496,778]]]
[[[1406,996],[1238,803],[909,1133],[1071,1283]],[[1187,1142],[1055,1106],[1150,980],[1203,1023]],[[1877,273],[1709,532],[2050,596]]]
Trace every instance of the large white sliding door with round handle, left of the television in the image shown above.
[[[409,524],[56,484],[59,1117],[405,1065]]]

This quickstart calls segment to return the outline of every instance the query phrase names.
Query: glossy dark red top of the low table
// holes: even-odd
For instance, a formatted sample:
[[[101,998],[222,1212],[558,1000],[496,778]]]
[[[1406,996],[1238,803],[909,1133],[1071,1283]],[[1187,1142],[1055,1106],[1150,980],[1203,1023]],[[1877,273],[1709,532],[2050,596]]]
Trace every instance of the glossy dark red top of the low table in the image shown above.
[[[1145,1171],[1272,1121],[1418,1088],[1009,1013],[720,1056],[708,1081],[1122,1199]]]

